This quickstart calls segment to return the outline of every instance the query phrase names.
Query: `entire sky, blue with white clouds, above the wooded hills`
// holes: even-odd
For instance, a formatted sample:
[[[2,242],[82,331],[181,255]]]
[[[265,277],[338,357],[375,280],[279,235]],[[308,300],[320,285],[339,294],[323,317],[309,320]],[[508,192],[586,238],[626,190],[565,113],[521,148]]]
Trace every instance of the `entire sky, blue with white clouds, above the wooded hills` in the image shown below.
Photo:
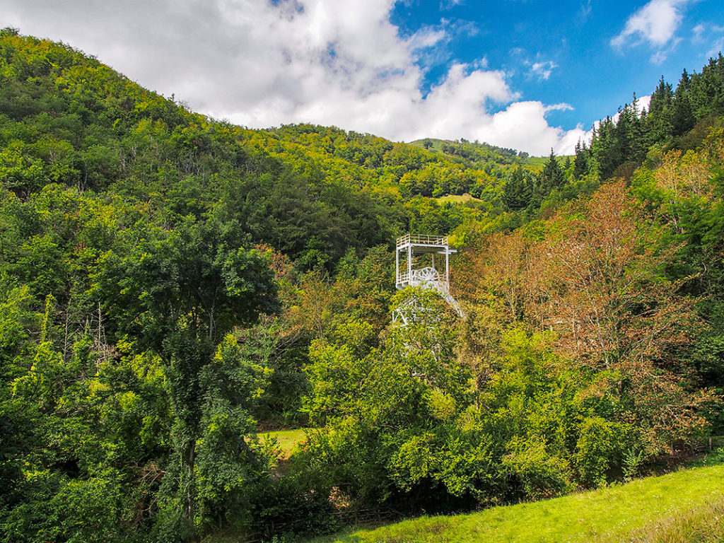
[[[724,51],[724,0],[0,0],[193,111],[573,153]]]

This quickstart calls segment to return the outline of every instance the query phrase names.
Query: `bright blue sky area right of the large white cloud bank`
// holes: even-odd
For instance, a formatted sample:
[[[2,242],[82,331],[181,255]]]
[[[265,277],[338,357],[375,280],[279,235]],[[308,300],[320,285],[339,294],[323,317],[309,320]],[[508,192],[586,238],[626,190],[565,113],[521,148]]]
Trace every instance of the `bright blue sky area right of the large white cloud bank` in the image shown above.
[[[649,25],[612,43],[647,4]],[[447,30],[437,54],[419,60],[426,89],[445,77],[450,62],[484,62],[504,70],[522,99],[570,104],[548,115],[566,129],[589,128],[634,92],[651,93],[662,75],[675,84],[684,68],[700,71],[724,50],[722,0],[408,0],[395,5],[391,20],[403,35]]]

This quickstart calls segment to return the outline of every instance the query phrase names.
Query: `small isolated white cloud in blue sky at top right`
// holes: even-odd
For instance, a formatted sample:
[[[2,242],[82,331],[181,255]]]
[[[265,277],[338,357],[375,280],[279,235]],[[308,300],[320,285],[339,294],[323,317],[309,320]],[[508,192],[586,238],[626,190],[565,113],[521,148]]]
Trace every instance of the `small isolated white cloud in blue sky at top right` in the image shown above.
[[[651,0],[639,11],[628,17],[621,33],[611,40],[614,47],[622,47],[638,38],[654,47],[665,46],[681,23],[681,7],[691,0]],[[634,44],[637,44],[634,41]]]

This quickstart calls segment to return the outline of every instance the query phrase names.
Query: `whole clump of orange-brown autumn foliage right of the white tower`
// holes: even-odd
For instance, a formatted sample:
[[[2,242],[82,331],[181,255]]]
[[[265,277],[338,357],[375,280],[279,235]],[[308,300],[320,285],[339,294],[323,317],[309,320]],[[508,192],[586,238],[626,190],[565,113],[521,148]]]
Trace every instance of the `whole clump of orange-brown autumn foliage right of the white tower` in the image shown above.
[[[647,455],[704,430],[702,406],[714,399],[697,389],[688,363],[705,324],[681,293],[687,279],[666,277],[677,248],[661,239],[662,228],[615,181],[468,257],[473,303],[554,332],[557,353],[590,376],[581,402],[614,398],[607,416],[636,429]]]

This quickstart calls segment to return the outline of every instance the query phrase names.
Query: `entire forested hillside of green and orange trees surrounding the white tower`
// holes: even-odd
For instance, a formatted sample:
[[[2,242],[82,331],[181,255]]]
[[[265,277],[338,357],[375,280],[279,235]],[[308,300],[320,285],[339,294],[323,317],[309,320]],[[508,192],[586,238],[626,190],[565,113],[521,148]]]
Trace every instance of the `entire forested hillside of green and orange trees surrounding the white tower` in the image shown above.
[[[722,56],[650,109],[563,159],[250,130],[2,30],[4,539],[320,533],[723,434]],[[406,232],[460,249],[465,319],[395,292]],[[310,428],[288,460],[282,427]]]

